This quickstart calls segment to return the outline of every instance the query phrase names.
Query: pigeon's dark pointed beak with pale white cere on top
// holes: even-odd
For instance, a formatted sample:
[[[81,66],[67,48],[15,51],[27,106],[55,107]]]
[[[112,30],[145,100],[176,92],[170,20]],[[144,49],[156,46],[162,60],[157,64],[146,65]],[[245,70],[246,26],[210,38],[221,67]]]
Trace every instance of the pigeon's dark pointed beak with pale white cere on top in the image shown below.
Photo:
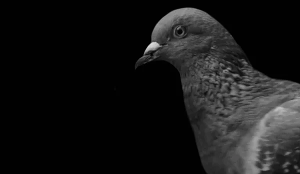
[[[151,42],[147,46],[147,48],[144,52],[144,55],[136,61],[135,69],[140,65],[143,65],[149,61],[152,61],[152,60],[158,58],[159,56],[153,56],[153,54],[151,54],[151,53],[157,51],[158,48],[160,48],[160,47],[161,47],[161,45],[159,45],[157,42]]]

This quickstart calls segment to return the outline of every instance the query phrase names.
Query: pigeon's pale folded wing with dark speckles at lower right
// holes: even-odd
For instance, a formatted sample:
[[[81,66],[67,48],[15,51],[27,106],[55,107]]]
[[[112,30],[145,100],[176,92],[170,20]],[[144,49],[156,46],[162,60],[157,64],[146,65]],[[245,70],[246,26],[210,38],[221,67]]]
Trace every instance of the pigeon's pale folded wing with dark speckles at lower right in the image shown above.
[[[300,98],[269,111],[255,129],[245,174],[300,173]]]

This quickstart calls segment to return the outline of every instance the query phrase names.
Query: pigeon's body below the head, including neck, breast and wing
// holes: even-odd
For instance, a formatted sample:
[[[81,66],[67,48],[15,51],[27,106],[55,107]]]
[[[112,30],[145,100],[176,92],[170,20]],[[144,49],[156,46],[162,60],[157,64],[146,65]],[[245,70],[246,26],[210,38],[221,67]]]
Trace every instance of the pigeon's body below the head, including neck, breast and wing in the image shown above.
[[[226,72],[181,79],[187,115],[203,166],[214,166],[209,168],[216,170],[211,174],[225,169],[228,174],[232,173],[230,170],[238,174],[263,174],[271,170],[283,173],[286,168],[280,164],[289,160],[289,171],[296,171],[292,164],[299,162],[296,158],[300,154],[296,149],[300,145],[300,85],[271,79],[257,71],[241,77],[225,75]],[[283,131],[287,135],[278,137]],[[273,164],[273,168],[279,169],[269,167],[275,163],[270,161],[274,156],[284,156],[284,150],[292,148],[291,159]],[[272,159],[265,160],[265,153]],[[208,169],[206,172],[210,174]]]

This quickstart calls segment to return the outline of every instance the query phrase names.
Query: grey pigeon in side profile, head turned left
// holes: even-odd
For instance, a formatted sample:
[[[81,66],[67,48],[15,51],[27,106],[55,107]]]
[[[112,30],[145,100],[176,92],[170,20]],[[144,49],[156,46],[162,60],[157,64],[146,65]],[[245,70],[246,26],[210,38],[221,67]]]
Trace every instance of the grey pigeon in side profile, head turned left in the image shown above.
[[[254,69],[216,19],[195,8],[169,12],[135,69],[150,61],[178,70],[207,174],[300,174],[300,84]]]

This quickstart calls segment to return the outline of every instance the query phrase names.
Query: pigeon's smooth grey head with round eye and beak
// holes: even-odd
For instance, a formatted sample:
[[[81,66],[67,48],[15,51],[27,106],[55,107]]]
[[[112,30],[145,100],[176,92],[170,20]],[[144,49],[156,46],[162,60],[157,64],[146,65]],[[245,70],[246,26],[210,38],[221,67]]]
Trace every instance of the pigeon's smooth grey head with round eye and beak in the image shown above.
[[[212,52],[228,47],[239,49],[230,33],[213,17],[199,9],[179,8],[166,14],[155,25],[151,43],[137,60],[135,68],[150,61],[163,60],[182,72],[190,69],[195,61],[201,62]]]

